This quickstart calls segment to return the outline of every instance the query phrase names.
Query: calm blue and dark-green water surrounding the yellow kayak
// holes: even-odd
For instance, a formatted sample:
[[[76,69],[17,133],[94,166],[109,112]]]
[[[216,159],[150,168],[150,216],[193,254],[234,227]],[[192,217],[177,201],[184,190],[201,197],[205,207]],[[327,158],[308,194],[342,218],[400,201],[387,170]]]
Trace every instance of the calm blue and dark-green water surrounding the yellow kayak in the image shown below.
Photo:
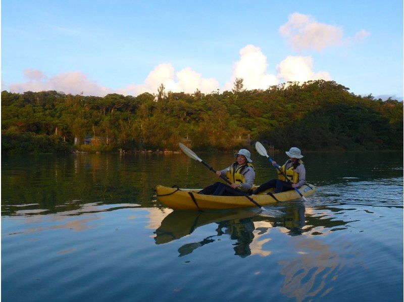
[[[275,177],[252,159],[257,184]],[[306,154],[318,192],[268,217],[165,208],[157,184],[217,180],[183,154],[3,156],[2,299],[402,301],[402,159]]]

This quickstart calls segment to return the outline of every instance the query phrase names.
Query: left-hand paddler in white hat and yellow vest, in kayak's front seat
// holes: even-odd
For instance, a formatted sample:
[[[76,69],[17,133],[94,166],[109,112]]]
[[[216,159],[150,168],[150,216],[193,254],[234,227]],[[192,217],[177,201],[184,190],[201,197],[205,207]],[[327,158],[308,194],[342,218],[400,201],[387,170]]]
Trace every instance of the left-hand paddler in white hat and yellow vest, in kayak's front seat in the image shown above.
[[[231,164],[230,167],[216,171],[216,175],[218,177],[225,176],[231,182],[231,186],[223,182],[215,182],[200,190],[199,194],[222,196],[251,194],[252,184],[256,178],[256,172],[251,164],[251,154],[247,149],[240,149],[239,152],[234,154],[234,157],[236,162]]]

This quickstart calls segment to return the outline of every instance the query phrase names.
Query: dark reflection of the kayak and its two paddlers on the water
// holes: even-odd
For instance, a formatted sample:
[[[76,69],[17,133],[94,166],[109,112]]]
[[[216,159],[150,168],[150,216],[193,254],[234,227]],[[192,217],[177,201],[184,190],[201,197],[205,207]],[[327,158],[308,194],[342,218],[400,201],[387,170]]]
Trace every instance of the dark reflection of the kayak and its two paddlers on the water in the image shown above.
[[[203,240],[186,243],[178,249],[179,257],[192,253],[198,247],[215,242],[222,235],[228,235],[235,242],[232,244],[235,254],[240,257],[251,255],[251,243],[256,237],[268,232],[272,227],[284,227],[289,235],[300,235],[305,226],[305,205],[301,202],[289,204],[282,209],[282,217],[266,217],[252,210],[229,211],[173,211],[166,216],[156,229],[156,244],[164,244],[191,234],[196,228],[209,224],[217,224],[215,233]],[[256,238],[258,239],[258,238]],[[265,241],[266,242],[266,241]],[[263,243],[254,244],[261,249]],[[262,251],[258,252],[265,256]],[[268,253],[266,254],[268,255]]]

